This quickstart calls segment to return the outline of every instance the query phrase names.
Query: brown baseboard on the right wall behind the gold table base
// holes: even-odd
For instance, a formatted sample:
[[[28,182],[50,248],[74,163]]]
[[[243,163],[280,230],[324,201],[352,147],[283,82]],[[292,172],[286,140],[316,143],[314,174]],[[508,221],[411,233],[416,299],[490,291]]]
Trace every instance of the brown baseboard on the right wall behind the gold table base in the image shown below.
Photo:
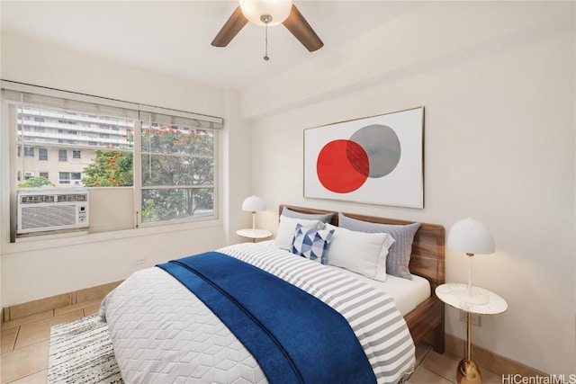
[[[463,356],[466,348],[466,341],[455,335],[446,334],[446,352]],[[515,362],[500,354],[493,353],[481,346],[474,345],[472,348],[473,361],[480,367],[487,369],[497,375],[521,375],[525,378],[547,377],[547,373],[537,371],[520,362]]]

